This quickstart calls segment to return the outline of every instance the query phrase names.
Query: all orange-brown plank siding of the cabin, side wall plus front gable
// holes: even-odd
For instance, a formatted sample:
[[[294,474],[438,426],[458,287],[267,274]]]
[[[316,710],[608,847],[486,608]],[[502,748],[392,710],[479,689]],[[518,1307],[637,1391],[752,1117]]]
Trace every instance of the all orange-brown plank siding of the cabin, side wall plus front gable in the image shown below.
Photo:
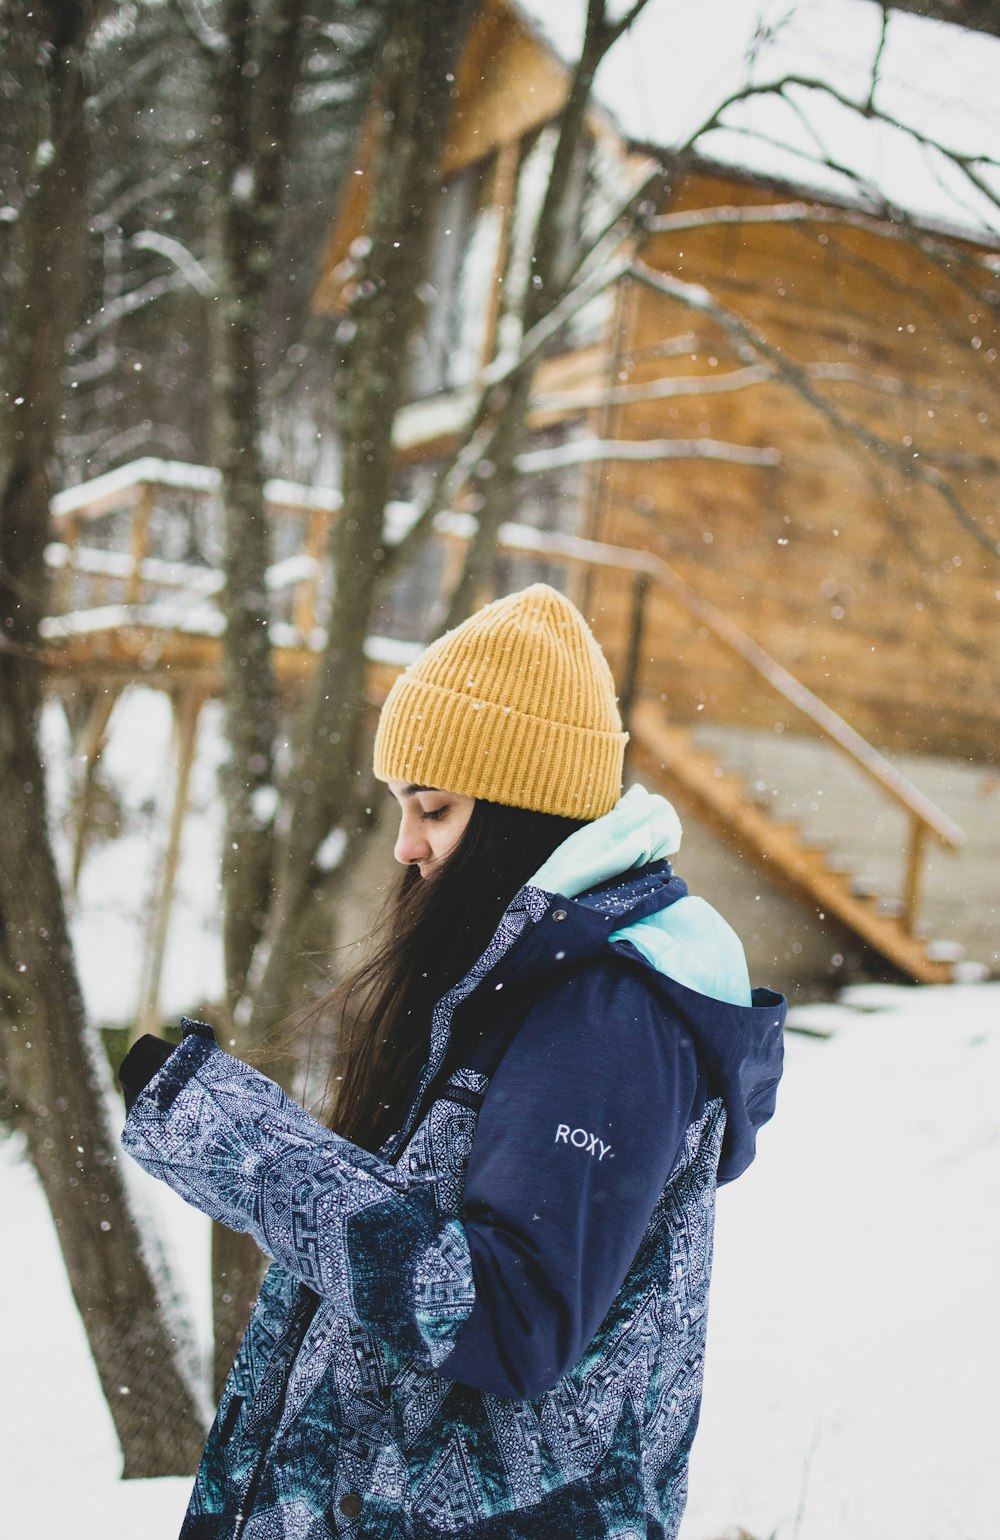
[[[564,65],[516,9],[488,0],[458,77],[445,177],[496,156],[482,196],[508,197],[516,179],[510,159],[501,174],[499,156],[513,145],[525,154],[558,111],[565,80]],[[635,151],[598,112],[592,132],[604,156],[619,157],[624,186]],[[362,171],[370,145],[371,134],[359,148]],[[342,303],[345,257],[364,231],[365,177],[351,180],[357,186],[339,211],[317,290],[324,310]],[[701,165],[675,179],[659,214],[794,197],[803,194]],[[544,362],[532,433],[553,444],[562,425],[567,436],[710,439],[773,451],[773,465],[693,457],[586,465],[567,477],[575,530],[663,557],[878,747],[995,761],[1000,557],[938,491],[906,476],[901,460],[917,454],[914,465],[948,477],[983,536],[1000,541],[1000,277],[983,266],[941,266],[915,239],[838,223],[834,205],[812,206],[818,223],[664,231],[647,236],[636,256],[653,274],[704,285],[794,360],[814,403],[781,380],[720,390],[723,376],[743,377],[750,354],[741,356],[716,320],[626,279],[602,330],[570,339],[567,356]],[[512,220],[496,214],[505,231]],[[487,308],[492,336],[493,299]],[[707,382],[698,394],[598,402],[602,385],[698,379]],[[867,434],[869,447],[826,420],[823,403]],[[408,474],[455,433],[455,417],[435,417],[433,405],[407,408],[416,430],[407,411],[398,425]],[[621,678],[632,579],[595,571],[575,598],[586,601]],[[635,685],[663,696],[678,722],[797,725],[663,588],[650,594]]]

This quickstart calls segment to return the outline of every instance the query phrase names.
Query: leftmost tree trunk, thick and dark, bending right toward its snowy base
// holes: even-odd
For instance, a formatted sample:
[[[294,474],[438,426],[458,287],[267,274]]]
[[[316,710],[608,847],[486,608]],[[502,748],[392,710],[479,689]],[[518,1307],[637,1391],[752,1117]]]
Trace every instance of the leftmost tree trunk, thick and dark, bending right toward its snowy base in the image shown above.
[[[0,1055],[45,1189],[125,1475],[194,1469],[205,1435],[185,1361],[131,1212],[112,1135],[111,1072],[88,1027],[46,827],[37,747],[49,465],[71,283],[85,246],[85,6],[35,8],[46,60],[34,185],[11,306],[14,428],[0,488]]]

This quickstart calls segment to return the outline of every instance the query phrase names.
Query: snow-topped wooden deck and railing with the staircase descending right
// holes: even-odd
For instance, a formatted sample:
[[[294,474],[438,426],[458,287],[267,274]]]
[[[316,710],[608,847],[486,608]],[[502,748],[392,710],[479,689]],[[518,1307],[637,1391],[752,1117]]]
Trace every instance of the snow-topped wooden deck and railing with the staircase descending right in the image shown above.
[[[216,604],[222,574],[163,561],[151,548],[151,514],[159,497],[183,496],[197,504],[217,497],[217,471],[140,460],[89,485],[76,487],[52,504],[55,541],[46,557],[57,582],[54,613],[43,622],[46,662],[52,681],[72,675],[77,691],[91,688],[94,695],[80,750],[88,768],[100,752],[106,727],[105,691],[111,691],[112,699],[129,679],[142,679],[168,688],[180,704],[186,701],[186,715],[180,715],[188,722],[188,733],[186,738],[180,733],[179,739],[182,752],[168,870],[171,852],[176,855],[174,847],[179,849],[197,707],[222,688],[219,636],[223,621]],[[277,562],[268,573],[276,678],[287,688],[297,688],[311,675],[324,645],[317,591],[325,536],[337,514],[337,497],[285,482],[270,484],[265,496],[276,519],[297,517],[304,530],[296,554]],[[116,519],[111,548],[106,533],[88,539],[94,521],[106,517]],[[445,574],[461,568],[462,550],[473,531],[475,521],[468,514],[439,514],[435,521],[435,537],[447,547]],[[920,935],[920,881],[926,842],[932,839],[945,849],[958,849],[965,836],[929,798],[650,551],[513,524],[501,528],[498,545],[508,556],[555,564],[550,581],[564,582],[572,596],[579,596],[589,573],[599,573],[602,579],[613,574],[615,582],[626,585],[626,610],[630,610],[632,621],[618,688],[632,735],[630,752],[652,785],[716,830],[778,887],[820,918],[829,916],[852,930],[901,973],[920,983],[952,979],[954,953],[960,949],[949,952],[946,946],[928,942]],[[690,732],[669,724],[661,696],[641,691],[644,605],[653,588],[687,613],[700,636],[710,636],[730,661],[749,668],[757,684],[778,698],[783,718],[795,713],[810,733],[844,756],[891,805],[903,812],[909,824],[909,845],[898,902],[864,892],[857,878],[840,869],[835,858],[810,842],[798,825],[775,818],[757,792],[740,776],[727,773],[715,753],[701,747]],[[621,654],[621,604],[613,614],[616,624],[598,616],[596,633],[610,654]],[[602,627],[609,634],[602,634]],[[367,650],[368,696],[378,704],[399,668],[419,651],[419,644],[370,638]],[[780,748],[775,747],[775,753]],[[83,801],[80,819],[85,818],[85,805]],[[77,869],[82,839],[83,822]],[[169,886],[163,893],[163,907],[165,912],[169,907]]]

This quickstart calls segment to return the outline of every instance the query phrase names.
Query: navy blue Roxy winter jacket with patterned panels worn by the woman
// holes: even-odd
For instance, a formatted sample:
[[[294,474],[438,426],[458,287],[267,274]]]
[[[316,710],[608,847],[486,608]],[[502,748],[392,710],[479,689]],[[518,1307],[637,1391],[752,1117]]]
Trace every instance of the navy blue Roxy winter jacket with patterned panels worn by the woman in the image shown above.
[[[125,1147],[274,1257],[185,1540],[676,1532],[715,1187],[773,1110],[784,1018],[616,938],[684,895],[666,861],[521,889],[379,1155],[185,1024]]]

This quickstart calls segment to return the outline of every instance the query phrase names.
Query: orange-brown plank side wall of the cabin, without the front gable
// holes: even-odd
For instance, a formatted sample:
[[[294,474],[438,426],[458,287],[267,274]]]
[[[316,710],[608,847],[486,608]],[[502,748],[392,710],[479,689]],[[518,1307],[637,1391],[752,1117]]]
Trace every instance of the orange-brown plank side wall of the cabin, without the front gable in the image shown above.
[[[693,174],[670,209],[778,202],[787,199]],[[716,226],[655,236],[643,259],[704,283],[797,363],[877,376],[881,388],[861,379],[810,385],[888,444],[912,437],[954,476],[983,530],[1000,534],[995,313],[912,245],[838,226]],[[741,368],[721,328],[647,288],[630,290],[622,383]],[[664,339],[692,330],[690,353],[655,357]],[[610,433],[777,448],[777,468],[609,464],[586,533],[663,556],[874,742],[997,755],[1000,561],[934,490],[781,383],[622,405]],[[992,464],[955,470],[952,456]],[[593,602],[602,602],[599,588]],[[769,702],[747,696],[732,664],[700,645],[666,599],[652,607],[647,644],[641,682],[667,681],[675,718],[690,721],[698,707],[724,722],[767,718]]]

